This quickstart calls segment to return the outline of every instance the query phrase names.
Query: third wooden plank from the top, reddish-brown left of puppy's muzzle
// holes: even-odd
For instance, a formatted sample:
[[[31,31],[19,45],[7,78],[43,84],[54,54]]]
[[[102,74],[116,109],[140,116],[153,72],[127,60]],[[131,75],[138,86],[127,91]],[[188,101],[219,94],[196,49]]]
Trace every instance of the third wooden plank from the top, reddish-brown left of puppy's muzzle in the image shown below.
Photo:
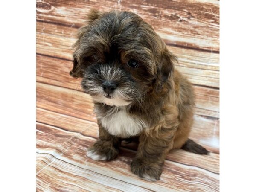
[[[80,87],[81,79],[74,79],[69,75],[71,66],[72,62],[70,61],[37,55],[37,81],[74,90],[82,90]],[[195,113],[218,118],[219,90],[199,86],[194,87],[196,94]],[[79,94],[78,92],[75,91],[73,94]]]

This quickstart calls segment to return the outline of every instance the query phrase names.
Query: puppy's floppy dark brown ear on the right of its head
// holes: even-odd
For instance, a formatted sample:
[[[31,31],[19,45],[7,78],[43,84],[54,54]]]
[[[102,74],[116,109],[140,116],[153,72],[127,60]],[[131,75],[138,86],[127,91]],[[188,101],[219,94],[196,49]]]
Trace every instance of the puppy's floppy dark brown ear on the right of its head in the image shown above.
[[[154,90],[157,93],[162,90],[163,83],[166,82],[174,70],[174,61],[177,61],[177,58],[172,55],[167,48],[165,48],[160,54],[159,63],[157,66],[157,78],[154,82]]]

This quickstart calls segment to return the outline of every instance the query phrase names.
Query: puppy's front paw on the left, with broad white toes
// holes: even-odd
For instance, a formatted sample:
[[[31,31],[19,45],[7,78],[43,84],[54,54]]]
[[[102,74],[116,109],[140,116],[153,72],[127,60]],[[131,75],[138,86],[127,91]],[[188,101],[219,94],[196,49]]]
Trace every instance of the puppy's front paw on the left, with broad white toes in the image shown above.
[[[93,160],[109,161],[118,155],[119,151],[113,147],[111,141],[97,140],[90,148],[87,149],[87,157]]]

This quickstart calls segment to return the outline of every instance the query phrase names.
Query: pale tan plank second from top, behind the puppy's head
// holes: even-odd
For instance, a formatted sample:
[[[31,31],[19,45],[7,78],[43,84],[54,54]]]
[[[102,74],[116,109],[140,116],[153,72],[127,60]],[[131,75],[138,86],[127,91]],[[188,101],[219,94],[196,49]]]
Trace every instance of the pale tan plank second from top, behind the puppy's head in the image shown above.
[[[37,22],[37,53],[58,58],[72,59],[71,47],[76,41],[77,29]],[[193,84],[219,87],[219,55],[168,46],[177,55],[175,65]]]

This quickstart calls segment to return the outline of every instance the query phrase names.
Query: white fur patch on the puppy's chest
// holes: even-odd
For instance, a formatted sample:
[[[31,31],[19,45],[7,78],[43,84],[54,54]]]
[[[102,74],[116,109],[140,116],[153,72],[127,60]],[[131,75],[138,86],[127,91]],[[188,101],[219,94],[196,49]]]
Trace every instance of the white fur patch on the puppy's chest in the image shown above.
[[[111,134],[127,138],[139,134],[145,124],[137,117],[130,116],[124,108],[114,110],[102,117],[102,126]]]

